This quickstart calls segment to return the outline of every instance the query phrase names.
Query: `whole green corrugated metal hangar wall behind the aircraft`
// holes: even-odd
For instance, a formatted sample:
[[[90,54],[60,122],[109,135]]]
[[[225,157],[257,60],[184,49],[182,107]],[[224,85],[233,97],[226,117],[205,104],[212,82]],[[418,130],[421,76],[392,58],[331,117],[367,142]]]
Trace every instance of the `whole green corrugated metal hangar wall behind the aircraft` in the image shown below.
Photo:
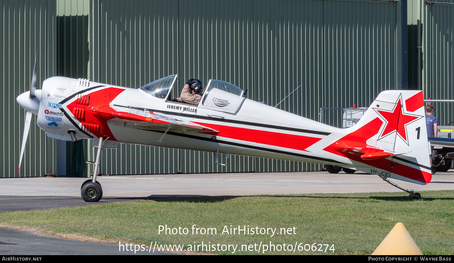
[[[406,19],[402,14],[407,15],[401,10],[406,8],[405,2],[2,1],[5,14],[0,21],[4,30],[0,53],[4,93],[3,176],[16,176],[25,111],[15,102],[15,97],[29,89],[35,49],[39,83],[50,76],[62,75],[138,88],[178,73],[173,97],[178,97],[188,78],[199,78],[203,83],[210,78],[221,79],[247,88],[248,98],[267,105],[274,106],[285,98],[278,108],[318,120],[320,107],[351,107],[354,103],[367,107],[382,90],[406,88],[407,54],[402,50],[407,40],[407,24],[401,23]],[[418,7],[423,10],[419,18],[424,42],[421,86],[424,93],[434,98],[448,98],[453,59],[452,39],[447,37],[452,36],[452,5],[428,6],[423,1],[415,5],[414,2],[408,6],[410,42],[416,38],[411,26],[418,19]],[[450,24],[446,24],[448,17]],[[445,20],[444,28],[440,29],[436,25],[442,20]],[[432,39],[437,36],[436,41]],[[412,85],[417,74],[414,46],[409,44],[412,57],[408,80]],[[433,46],[443,47],[444,51],[434,52]],[[440,83],[446,90],[441,94]],[[418,87],[410,85],[410,88]],[[439,116],[451,117],[448,113]],[[57,173],[61,163],[66,163],[68,170],[59,169],[60,175],[64,172],[71,175],[76,170],[89,175],[86,166],[85,170],[74,168],[76,163],[84,161],[74,159],[74,152],[80,151],[80,142],[79,145],[66,143],[66,157],[60,152],[57,155],[55,149],[60,142],[47,139],[36,125],[31,127],[20,176]],[[91,141],[83,144],[85,160],[93,160]],[[314,164],[245,156],[231,156],[228,160],[223,156],[222,162],[227,166],[216,166],[213,154],[207,152],[121,144],[116,150],[103,151],[101,172],[321,169]]]

